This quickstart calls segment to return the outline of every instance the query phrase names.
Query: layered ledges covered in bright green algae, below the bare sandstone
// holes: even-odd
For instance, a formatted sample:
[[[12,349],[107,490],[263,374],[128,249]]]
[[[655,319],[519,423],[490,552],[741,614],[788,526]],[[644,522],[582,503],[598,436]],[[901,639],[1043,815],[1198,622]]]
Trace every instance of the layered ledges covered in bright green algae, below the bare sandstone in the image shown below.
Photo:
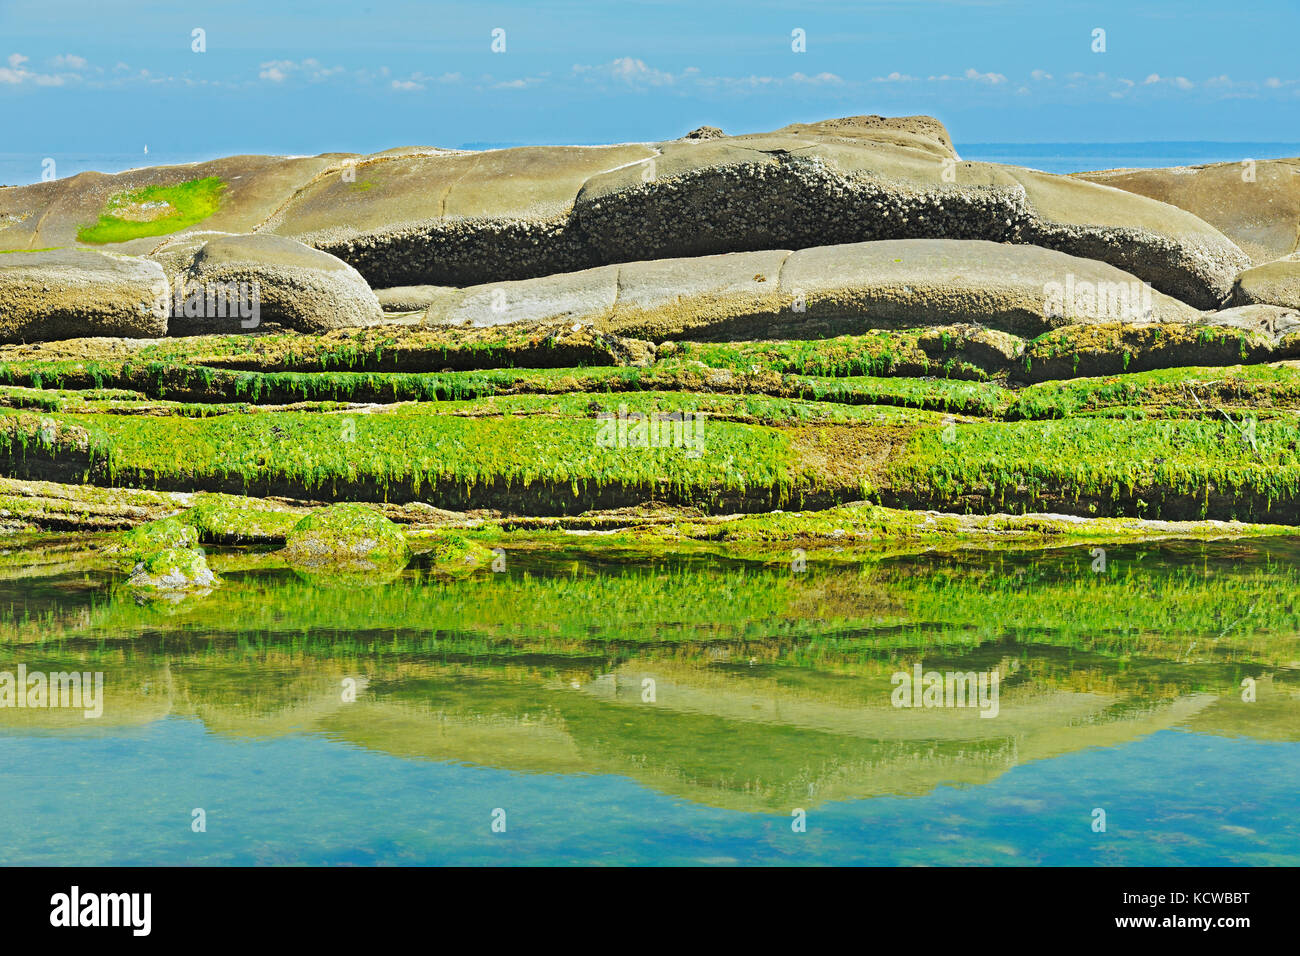
[[[1200,358],[1235,362],[1027,382],[968,332],[655,347],[588,328],[394,326],[8,346],[0,463],[101,489],[79,493],[88,509],[135,488],[486,518],[867,501],[1300,520],[1297,363],[1240,364],[1247,337],[1206,338]],[[1070,346],[1049,333],[1027,350],[1072,369]],[[576,364],[542,367],[550,350]]]

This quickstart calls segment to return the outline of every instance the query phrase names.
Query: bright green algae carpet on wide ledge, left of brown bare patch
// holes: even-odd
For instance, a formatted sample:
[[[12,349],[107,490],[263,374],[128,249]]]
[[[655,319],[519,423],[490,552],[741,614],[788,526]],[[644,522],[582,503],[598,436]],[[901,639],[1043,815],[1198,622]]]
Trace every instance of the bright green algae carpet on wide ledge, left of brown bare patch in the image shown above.
[[[550,483],[573,493],[590,486],[707,492],[789,489],[788,441],[776,431],[708,423],[706,451],[681,446],[604,447],[594,414],[582,418],[462,418],[398,407],[386,414],[273,412],[208,419],[68,416],[103,436],[109,480],[237,488],[291,481],[308,490],[370,483],[412,493],[452,485],[465,493]],[[0,416],[0,423],[3,423]]]

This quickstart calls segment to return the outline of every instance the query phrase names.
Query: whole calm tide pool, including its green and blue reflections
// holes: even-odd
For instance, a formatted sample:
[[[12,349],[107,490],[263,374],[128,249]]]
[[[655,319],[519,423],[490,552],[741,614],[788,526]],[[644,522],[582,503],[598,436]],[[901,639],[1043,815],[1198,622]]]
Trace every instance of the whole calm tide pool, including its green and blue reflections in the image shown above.
[[[530,862],[618,861],[620,847],[640,860],[647,840],[682,861],[703,853],[696,840],[710,858],[754,862],[1300,861],[1287,822],[1300,792],[1295,540],[1115,546],[1101,574],[1087,548],[850,553],[803,574],[504,548],[500,574],[448,579],[426,555],[364,589],[240,571],[246,553],[214,549],[225,585],[165,606],[112,589],[74,551],[9,555],[0,671],[103,670],[105,705],[99,722],[0,709],[0,735],[44,753],[56,778],[61,748],[166,750],[198,779],[124,783],[109,765],[126,790],[105,799],[148,803],[133,788],[150,787],[203,805],[211,773],[300,806],[289,830],[334,839],[303,848],[247,818],[203,844],[214,861],[482,861],[455,834],[484,801],[510,806],[512,852]],[[892,675],[918,662],[997,671],[998,715],[892,706]],[[1190,757],[1209,750],[1214,761]],[[1270,777],[1243,821],[1231,808],[1244,766]],[[27,800],[5,769],[0,800]],[[321,783],[350,775],[365,784],[347,801],[337,787],[348,784]],[[447,814],[437,826],[432,792]],[[1093,839],[1098,804],[1122,839]],[[811,839],[786,845],[794,806]],[[38,834],[70,826],[29,810]],[[94,831],[105,809],[64,812]],[[567,842],[541,825],[556,818]],[[0,845],[17,843],[9,826]],[[881,827],[892,844],[824,836]],[[87,860],[140,852],[100,839]]]

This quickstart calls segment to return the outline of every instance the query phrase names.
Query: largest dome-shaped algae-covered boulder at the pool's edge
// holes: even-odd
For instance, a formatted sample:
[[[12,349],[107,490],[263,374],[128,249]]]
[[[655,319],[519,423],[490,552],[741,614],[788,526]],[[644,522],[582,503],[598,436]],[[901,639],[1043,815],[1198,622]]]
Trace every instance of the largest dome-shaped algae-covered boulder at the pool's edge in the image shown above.
[[[411,558],[402,528],[367,505],[344,502],[312,511],[289,532],[278,553],[290,564],[367,570]]]

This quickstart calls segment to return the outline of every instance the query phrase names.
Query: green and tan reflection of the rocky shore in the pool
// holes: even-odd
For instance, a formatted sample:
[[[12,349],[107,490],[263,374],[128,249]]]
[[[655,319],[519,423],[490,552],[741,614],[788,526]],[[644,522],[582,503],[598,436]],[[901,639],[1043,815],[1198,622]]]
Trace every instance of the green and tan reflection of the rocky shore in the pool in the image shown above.
[[[1291,564],[1219,551],[1230,559],[1201,574],[1199,551],[1164,553],[1171,567],[1121,597],[1071,574],[1069,554],[894,558],[807,581],[725,563],[573,575],[575,561],[564,574],[412,574],[363,589],[233,568],[211,598],[165,607],[81,571],[27,576],[6,593],[40,589],[42,613],[0,650],[103,670],[104,717],[0,709],[0,730],[190,717],[220,735],[324,734],[399,758],[615,774],[767,812],[987,783],[1173,727],[1295,740]],[[918,661],[996,670],[997,717],[892,706],[890,674]],[[1251,704],[1244,676],[1257,680]]]

